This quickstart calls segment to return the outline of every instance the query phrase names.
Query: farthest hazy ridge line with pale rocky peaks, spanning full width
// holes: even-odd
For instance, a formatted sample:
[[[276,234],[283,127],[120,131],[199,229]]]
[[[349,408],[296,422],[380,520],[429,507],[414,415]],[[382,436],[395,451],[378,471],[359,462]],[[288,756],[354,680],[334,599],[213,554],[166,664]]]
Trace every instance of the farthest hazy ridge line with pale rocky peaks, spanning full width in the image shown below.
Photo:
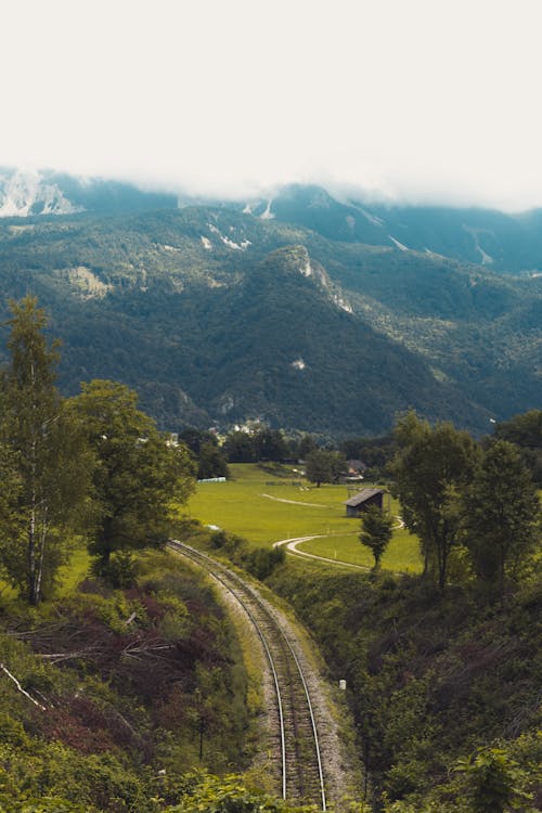
[[[332,193],[314,184],[289,184],[255,199],[232,202],[144,191],[130,183],[52,170],[0,169],[0,218],[194,206],[233,209],[341,243],[440,255],[498,273],[542,273],[542,209],[509,215],[482,208],[383,204],[364,199],[361,191]]]

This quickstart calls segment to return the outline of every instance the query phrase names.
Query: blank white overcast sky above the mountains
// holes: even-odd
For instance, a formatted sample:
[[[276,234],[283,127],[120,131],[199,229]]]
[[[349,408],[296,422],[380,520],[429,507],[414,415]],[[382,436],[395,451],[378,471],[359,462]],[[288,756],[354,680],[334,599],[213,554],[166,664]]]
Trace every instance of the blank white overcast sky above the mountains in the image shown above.
[[[542,206],[542,0],[5,0],[0,165]]]

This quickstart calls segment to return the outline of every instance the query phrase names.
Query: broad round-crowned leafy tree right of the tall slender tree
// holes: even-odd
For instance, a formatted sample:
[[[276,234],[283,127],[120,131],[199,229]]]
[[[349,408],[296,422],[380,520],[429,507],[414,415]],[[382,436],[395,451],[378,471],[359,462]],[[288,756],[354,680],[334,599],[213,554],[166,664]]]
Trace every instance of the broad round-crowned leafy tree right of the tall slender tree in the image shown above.
[[[69,406],[85,423],[99,465],[94,491],[100,517],[90,544],[105,576],[115,551],[160,545],[171,535],[175,504],[193,489],[193,467],[183,444],[168,443],[137,409],[137,395],[115,382],[81,385]]]

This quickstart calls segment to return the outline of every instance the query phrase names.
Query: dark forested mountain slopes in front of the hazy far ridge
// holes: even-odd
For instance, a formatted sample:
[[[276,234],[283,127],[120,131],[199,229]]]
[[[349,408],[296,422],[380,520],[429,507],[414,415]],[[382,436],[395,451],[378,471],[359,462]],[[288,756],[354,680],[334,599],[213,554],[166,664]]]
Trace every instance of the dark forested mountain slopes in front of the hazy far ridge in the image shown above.
[[[209,224],[250,245],[232,250]],[[53,314],[63,390],[126,382],[163,427],[262,415],[374,435],[413,405],[485,431],[492,414],[538,402],[540,279],[224,208],[28,227],[0,223],[2,289],[30,289]],[[337,307],[345,299],[353,313]]]

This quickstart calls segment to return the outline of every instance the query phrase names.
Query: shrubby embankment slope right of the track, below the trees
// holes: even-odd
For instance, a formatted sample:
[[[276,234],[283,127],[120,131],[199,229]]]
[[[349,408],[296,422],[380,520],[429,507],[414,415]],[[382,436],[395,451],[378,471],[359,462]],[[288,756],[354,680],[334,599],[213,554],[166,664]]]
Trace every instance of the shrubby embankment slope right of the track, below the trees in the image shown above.
[[[501,607],[459,588],[442,597],[418,579],[302,565],[278,570],[272,584],[347,680],[375,810],[473,813],[474,778],[453,769],[477,748],[506,751],[519,810],[535,808],[539,585]]]

